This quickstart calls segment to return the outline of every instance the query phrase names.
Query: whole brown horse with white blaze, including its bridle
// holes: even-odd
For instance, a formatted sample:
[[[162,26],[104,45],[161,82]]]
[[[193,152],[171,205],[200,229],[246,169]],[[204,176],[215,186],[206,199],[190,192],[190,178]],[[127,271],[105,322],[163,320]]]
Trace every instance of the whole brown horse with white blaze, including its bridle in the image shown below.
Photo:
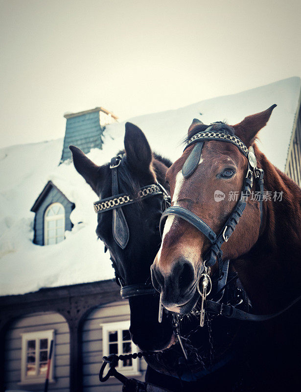
[[[151,268],[168,311],[189,314],[202,297],[206,304],[204,287],[225,259],[255,314],[281,313],[300,296],[301,190],[255,143],[276,106],[232,126],[197,119],[190,125],[186,148],[166,173],[172,207]],[[261,199],[250,196],[256,192]],[[299,389],[300,301],[254,328],[253,371],[264,380],[255,390]]]

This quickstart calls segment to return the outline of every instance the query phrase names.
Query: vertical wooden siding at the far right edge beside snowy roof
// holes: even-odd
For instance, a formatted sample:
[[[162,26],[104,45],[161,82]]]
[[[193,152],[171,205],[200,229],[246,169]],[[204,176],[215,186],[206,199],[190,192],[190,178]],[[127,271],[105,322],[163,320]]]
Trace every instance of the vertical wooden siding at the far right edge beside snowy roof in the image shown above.
[[[285,173],[301,187],[301,111],[289,147]]]

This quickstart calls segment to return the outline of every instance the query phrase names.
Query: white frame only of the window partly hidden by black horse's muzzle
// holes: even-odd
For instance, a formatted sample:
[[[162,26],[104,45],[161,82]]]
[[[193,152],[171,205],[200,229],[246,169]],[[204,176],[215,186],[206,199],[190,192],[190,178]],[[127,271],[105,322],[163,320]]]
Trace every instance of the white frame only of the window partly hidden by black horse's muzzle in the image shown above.
[[[122,354],[122,330],[130,328],[130,320],[126,321],[117,321],[117,322],[108,322],[100,324],[102,327],[102,353],[103,356],[109,355],[109,332],[117,331],[117,339],[118,339],[118,355]],[[132,343],[132,353],[138,352],[138,347],[131,341]],[[132,366],[122,366],[122,361],[118,362],[118,366],[116,370],[124,375],[141,375],[139,371],[139,358],[132,359]]]

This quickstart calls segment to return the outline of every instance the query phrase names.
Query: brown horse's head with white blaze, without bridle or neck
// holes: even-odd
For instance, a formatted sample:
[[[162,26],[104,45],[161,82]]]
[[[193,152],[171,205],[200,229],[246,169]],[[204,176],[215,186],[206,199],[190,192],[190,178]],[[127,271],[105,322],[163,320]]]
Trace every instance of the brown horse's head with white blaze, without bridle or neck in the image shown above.
[[[233,126],[213,124],[212,131],[214,126],[222,127],[221,132],[237,136],[250,147],[275,106],[248,116]],[[194,120],[188,129],[187,140],[207,127]],[[236,146],[210,140],[204,143],[201,155],[197,156],[194,172],[183,176],[183,166],[194,147],[186,148],[166,173],[172,205],[191,211],[218,234],[240,197],[248,162]],[[233,259],[246,253],[257,241],[259,228],[259,203],[249,197],[246,211],[231,238],[222,245],[224,258]],[[178,216],[167,217],[162,245],[152,265],[153,284],[161,292],[165,308],[182,314],[193,309],[199,298],[197,285],[204,271],[203,257],[209,246],[208,238],[189,222]],[[213,266],[212,271],[216,268]]]

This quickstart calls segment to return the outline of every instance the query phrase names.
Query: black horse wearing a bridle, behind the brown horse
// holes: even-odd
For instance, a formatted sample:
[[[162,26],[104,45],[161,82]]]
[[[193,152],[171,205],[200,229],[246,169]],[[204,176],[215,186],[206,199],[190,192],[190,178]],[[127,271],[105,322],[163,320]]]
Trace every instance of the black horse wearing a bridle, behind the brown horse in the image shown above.
[[[149,288],[150,266],[161,244],[159,221],[165,206],[160,192],[140,200],[139,195],[143,195],[150,184],[163,184],[169,189],[165,174],[171,162],[153,153],[143,132],[131,123],[125,124],[124,150],[119,151],[111,163],[98,167],[79,148],[69,148],[75,169],[100,198],[94,203],[96,235],[105,249],[109,249],[116,282],[123,286],[122,296],[129,297],[132,340],[146,353],[144,358],[151,365],[147,368],[146,381],[172,391],[198,391],[200,385],[209,391],[208,385],[211,388],[232,385],[233,380],[228,382],[229,374],[226,377],[224,365],[231,362],[228,357],[239,331],[237,324],[218,320],[216,325],[212,320],[208,328],[200,331],[197,318],[182,320],[181,331],[178,331],[185,335],[183,344],[189,356],[186,366],[179,363],[185,359],[171,315],[164,314],[162,322],[158,322],[159,296]],[[136,202],[129,202],[127,195]],[[114,215],[118,205],[122,205],[122,214]],[[141,286],[145,286],[144,293],[133,295],[141,294]],[[213,341],[214,361],[211,358]],[[233,377],[235,383],[237,375]]]

